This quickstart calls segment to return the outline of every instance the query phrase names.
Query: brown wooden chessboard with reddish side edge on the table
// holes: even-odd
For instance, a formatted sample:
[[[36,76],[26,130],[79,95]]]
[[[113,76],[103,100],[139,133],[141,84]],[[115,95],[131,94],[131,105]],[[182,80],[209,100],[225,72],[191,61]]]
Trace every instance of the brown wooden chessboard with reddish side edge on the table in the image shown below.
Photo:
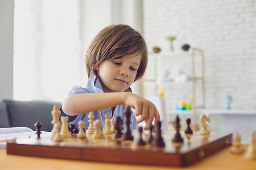
[[[165,147],[157,147],[150,144],[137,145],[139,133],[134,130],[132,134],[134,141],[121,142],[111,137],[92,140],[90,137],[77,139],[73,136],[59,143],[52,142],[50,138],[16,139],[7,143],[7,154],[183,167],[227,147],[232,141],[232,133],[211,132],[210,135],[201,136],[198,131],[194,131],[189,138],[180,132],[184,142],[173,143],[175,131],[162,131]]]

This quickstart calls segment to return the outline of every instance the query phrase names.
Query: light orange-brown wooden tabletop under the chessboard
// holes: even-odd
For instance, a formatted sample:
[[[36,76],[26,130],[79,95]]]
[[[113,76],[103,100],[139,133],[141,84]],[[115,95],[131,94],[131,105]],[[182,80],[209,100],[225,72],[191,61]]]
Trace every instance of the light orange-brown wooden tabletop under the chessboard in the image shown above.
[[[247,145],[244,145],[245,150]],[[134,164],[113,164],[93,161],[74,161],[29,156],[7,155],[0,149],[1,170],[256,170],[256,159],[246,160],[244,154],[232,155],[230,147],[218,151],[187,167],[161,167]]]

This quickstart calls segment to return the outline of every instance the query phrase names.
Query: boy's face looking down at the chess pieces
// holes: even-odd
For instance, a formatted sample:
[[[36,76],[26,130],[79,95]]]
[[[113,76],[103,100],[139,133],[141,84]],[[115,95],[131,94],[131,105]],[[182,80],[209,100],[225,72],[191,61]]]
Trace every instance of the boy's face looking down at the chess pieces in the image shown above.
[[[135,57],[134,57],[135,56]],[[141,54],[103,61],[95,67],[104,92],[122,92],[131,86],[140,67]]]

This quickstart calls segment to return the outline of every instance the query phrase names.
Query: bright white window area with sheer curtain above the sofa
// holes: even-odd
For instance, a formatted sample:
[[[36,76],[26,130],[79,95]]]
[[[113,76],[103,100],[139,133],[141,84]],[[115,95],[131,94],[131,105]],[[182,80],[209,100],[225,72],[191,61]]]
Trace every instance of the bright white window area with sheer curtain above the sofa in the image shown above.
[[[15,0],[14,99],[62,102],[81,85],[79,0]]]

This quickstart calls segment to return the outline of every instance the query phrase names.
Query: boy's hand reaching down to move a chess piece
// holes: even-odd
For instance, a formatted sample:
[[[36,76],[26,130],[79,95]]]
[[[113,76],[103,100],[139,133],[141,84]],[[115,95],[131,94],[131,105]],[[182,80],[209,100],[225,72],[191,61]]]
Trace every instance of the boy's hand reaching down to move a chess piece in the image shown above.
[[[142,122],[143,120],[146,122],[146,126],[144,127],[145,130],[148,130],[150,125],[152,125],[152,122],[155,118],[155,122],[160,119],[160,115],[157,111],[157,108],[155,105],[144,99],[143,97],[137,96],[132,93],[127,93],[127,96],[125,97],[125,105],[128,105],[135,109],[135,112],[133,113],[134,116],[141,115],[140,119],[137,120],[137,123]]]

